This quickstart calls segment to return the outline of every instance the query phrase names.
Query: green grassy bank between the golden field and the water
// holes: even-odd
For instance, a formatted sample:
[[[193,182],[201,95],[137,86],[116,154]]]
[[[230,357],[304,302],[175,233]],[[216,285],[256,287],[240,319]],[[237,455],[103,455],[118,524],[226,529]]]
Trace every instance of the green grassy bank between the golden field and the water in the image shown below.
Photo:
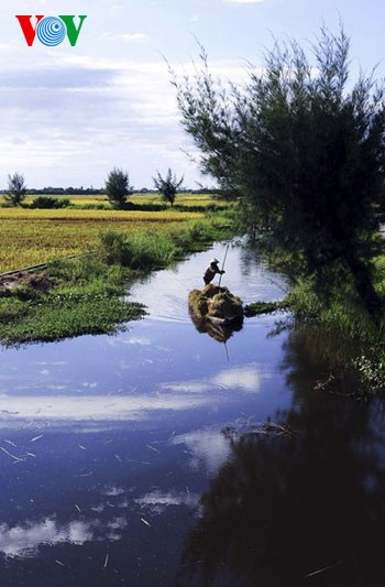
[[[226,214],[186,220],[165,230],[103,232],[92,251],[56,260],[38,274],[0,284],[0,341],[18,345],[84,334],[112,334],[145,313],[127,300],[135,279],[229,236]]]

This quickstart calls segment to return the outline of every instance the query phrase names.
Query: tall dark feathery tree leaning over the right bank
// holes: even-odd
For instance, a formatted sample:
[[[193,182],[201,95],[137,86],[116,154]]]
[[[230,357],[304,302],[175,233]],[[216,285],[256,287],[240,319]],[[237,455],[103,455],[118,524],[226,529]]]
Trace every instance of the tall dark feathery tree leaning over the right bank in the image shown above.
[[[371,243],[385,175],[384,86],[350,80],[349,50],[342,28],[322,29],[312,59],[295,41],[276,43],[245,86],[215,80],[205,53],[201,70],[174,84],[202,171],[243,196],[292,278],[310,276],[326,295],[348,281],[377,317]]]

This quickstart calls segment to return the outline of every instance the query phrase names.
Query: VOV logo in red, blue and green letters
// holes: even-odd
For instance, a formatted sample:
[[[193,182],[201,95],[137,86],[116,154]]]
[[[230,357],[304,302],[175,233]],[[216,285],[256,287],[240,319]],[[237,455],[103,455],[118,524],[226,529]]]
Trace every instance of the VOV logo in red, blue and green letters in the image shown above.
[[[74,47],[79,37],[82,23],[87,19],[85,14],[78,17],[78,25],[75,24],[75,14],[61,14],[59,17],[44,17],[36,14],[36,23],[32,24],[32,14],[19,14],[16,19],[24,33],[26,44],[31,47],[37,36],[38,41],[48,47],[63,43],[66,36]]]

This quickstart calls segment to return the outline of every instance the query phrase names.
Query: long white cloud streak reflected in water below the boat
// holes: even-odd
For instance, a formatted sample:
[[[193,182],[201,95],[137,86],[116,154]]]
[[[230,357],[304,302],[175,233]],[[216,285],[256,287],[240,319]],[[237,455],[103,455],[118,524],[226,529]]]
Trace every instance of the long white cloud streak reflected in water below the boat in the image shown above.
[[[164,414],[183,413],[232,402],[234,391],[256,393],[270,379],[268,369],[258,363],[216,369],[201,379],[160,382],[147,393],[97,393],[97,383],[84,383],[85,392],[63,394],[0,394],[0,430],[47,427],[86,432],[87,425],[154,421]],[[57,390],[59,392],[61,390]],[[94,394],[90,391],[95,391]],[[231,392],[224,395],[223,393]],[[220,395],[219,395],[220,394]],[[82,426],[81,426],[82,424]],[[1,441],[0,441],[1,444]],[[0,447],[1,448],[1,447]]]

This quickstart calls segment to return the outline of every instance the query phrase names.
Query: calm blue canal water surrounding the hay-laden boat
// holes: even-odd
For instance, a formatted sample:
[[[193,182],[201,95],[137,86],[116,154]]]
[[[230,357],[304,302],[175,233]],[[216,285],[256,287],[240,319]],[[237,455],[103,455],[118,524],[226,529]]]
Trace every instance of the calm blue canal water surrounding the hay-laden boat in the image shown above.
[[[223,254],[135,286],[125,333],[2,350],[1,587],[384,585],[382,404],[284,314],[199,333],[187,294]],[[240,247],[223,284],[283,296]]]

